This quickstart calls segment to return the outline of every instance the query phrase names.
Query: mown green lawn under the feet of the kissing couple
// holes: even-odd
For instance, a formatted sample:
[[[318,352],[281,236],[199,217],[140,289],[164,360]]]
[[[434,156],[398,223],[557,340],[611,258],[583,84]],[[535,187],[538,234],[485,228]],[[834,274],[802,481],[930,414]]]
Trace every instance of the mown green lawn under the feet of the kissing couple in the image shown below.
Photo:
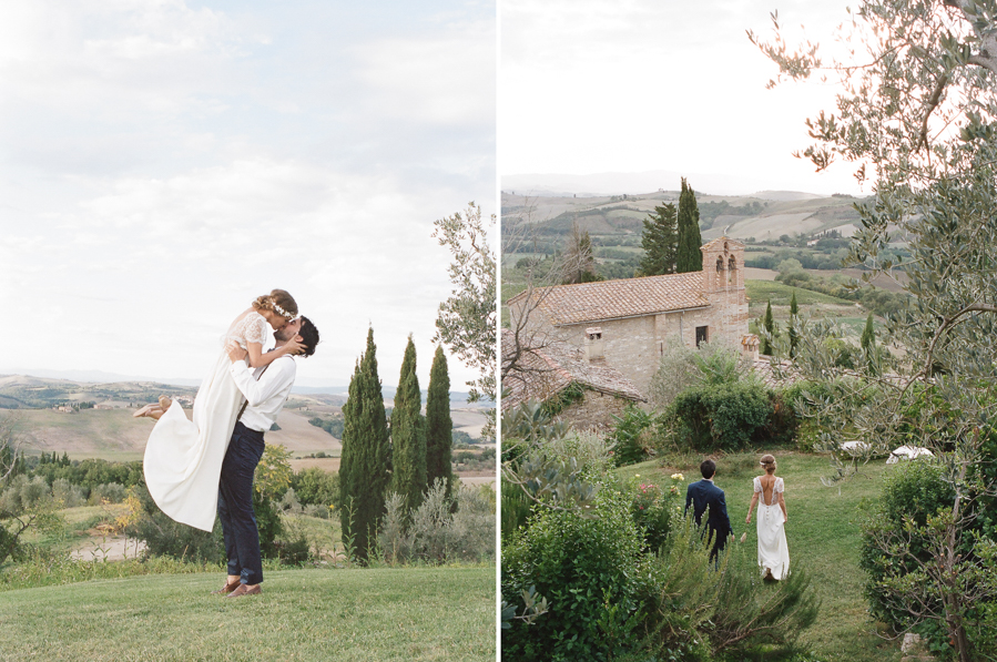
[[[221,573],[0,593],[0,659],[481,660],[496,656],[494,568],[282,570],[264,593]]]

